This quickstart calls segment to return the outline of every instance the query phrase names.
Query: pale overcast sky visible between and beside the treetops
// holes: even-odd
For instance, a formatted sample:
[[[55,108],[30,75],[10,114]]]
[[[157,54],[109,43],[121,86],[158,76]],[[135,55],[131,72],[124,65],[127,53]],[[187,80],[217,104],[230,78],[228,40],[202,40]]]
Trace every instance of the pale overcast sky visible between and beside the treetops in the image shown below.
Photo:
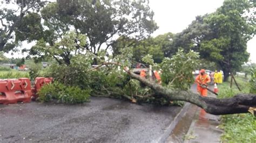
[[[212,13],[223,4],[224,0],[150,0],[150,7],[154,11],[154,20],[159,29],[152,35],[167,32],[178,33],[184,30],[196,16]],[[23,42],[23,47],[31,44]],[[256,37],[248,41],[247,51],[251,54],[250,60],[256,63]],[[6,54],[10,57],[10,54]],[[22,55],[14,54],[22,57]],[[24,56],[24,55],[23,55]]]

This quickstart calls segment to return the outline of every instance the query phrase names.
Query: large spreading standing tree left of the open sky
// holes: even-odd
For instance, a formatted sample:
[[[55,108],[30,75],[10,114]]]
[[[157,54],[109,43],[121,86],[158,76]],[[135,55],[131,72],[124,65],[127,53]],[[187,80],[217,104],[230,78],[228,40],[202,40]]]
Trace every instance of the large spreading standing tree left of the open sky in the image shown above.
[[[42,39],[53,46],[67,32],[75,30],[76,34],[86,35],[86,44],[76,48],[97,55],[100,49],[111,49],[118,37],[148,37],[157,29],[153,15],[148,1],[57,1],[46,5],[41,15],[31,13],[21,25],[33,26],[21,26],[22,32],[17,33],[21,41]],[[44,20],[43,26],[39,17]],[[35,52],[31,54],[41,54]]]

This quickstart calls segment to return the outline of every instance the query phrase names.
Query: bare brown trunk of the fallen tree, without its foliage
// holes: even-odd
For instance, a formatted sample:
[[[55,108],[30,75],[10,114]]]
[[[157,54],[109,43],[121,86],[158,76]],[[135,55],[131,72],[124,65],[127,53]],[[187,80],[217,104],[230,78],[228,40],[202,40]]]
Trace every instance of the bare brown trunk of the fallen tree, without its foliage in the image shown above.
[[[156,92],[156,94],[170,99],[170,101],[186,101],[203,108],[207,113],[213,115],[227,115],[234,113],[248,113],[250,107],[256,106],[256,95],[239,94],[232,98],[217,99],[213,97],[202,97],[191,91],[171,90],[159,84],[152,83],[144,77],[140,77],[132,71],[126,70],[131,78],[134,78]]]

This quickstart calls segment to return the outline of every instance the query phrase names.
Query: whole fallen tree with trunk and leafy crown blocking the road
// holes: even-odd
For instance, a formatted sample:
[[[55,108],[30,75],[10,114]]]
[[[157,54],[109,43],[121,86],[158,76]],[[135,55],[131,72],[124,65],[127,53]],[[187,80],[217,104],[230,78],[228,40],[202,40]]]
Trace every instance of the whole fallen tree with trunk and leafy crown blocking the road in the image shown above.
[[[72,38],[76,39],[76,37],[68,37],[68,39]],[[60,42],[60,44],[71,48],[79,46],[77,43],[73,43],[73,40],[69,40],[69,42]],[[140,77],[129,69],[132,67],[131,49],[123,49],[122,54],[114,58],[109,56],[105,59],[105,56],[108,56],[105,51],[99,51],[98,55],[90,51],[85,54],[73,55],[70,65],[52,65],[50,67],[52,71],[46,73],[51,73],[48,76],[52,76],[65,86],[89,89],[91,90],[90,95],[93,96],[127,98],[132,102],[137,102],[138,99],[149,103],[164,101],[165,105],[172,101],[185,101],[195,104],[213,115],[247,113],[256,110],[256,95],[240,94],[232,98],[217,99],[201,97],[189,91],[190,85],[194,82],[192,71],[199,63],[199,54],[196,52],[185,53],[183,50],[179,50],[176,55],[164,58],[161,63],[154,63],[151,55],[144,56],[142,60],[145,63],[162,71],[162,85]],[[92,69],[92,63],[95,60],[100,66]],[[129,78],[122,69],[129,75]]]

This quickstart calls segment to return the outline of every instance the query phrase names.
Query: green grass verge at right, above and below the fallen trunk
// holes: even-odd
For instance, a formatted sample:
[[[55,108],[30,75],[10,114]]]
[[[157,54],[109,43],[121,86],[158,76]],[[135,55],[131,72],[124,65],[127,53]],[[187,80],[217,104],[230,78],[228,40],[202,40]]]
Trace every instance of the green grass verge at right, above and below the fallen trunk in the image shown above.
[[[248,93],[250,90],[248,78],[235,76],[242,91],[239,91],[233,82],[230,88],[230,79],[228,82],[218,85],[218,98],[230,98],[239,93]],[[221,135],[223,142],[256,142],[256,117],[250,113],[224,115],[221,116],[220,127],[224,130]]]

